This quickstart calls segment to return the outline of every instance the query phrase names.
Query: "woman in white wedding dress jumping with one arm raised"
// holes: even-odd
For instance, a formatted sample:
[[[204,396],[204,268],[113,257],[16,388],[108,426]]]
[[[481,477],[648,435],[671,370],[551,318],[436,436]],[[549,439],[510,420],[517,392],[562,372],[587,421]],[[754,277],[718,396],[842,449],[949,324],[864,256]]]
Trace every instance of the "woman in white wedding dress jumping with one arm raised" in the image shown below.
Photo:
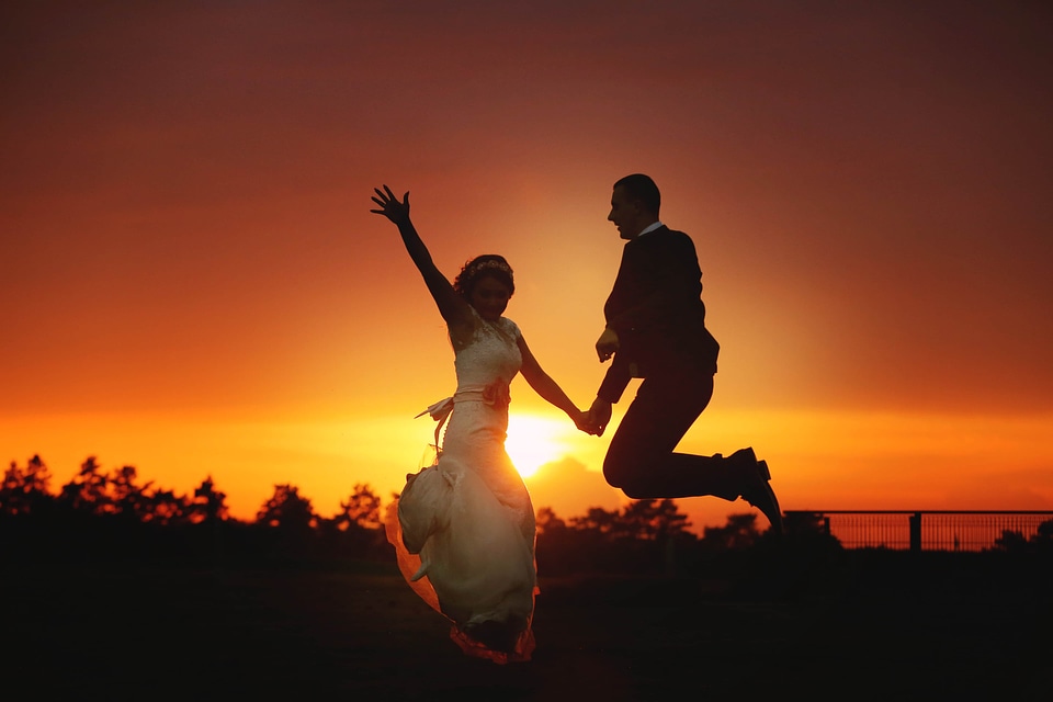
[[[497,663],[529,660],[534,647],[534,511],[522,477],[505,451],[509,383],[522,373],[545,400],[588,431],[579,410],[545,373],[519,327],[503,317],[514,292],[512,269],[500,256],[468,261],[453,284],[431,260],[409,218],[409,193],[374,189],[446,322],[457,389],[428,408],[449,416],[434,464],[406,477],[389,512],[388,540],[414,589],[453,621],[451,636],[465,653]],[[421,412],[423,414],[423,412]]]

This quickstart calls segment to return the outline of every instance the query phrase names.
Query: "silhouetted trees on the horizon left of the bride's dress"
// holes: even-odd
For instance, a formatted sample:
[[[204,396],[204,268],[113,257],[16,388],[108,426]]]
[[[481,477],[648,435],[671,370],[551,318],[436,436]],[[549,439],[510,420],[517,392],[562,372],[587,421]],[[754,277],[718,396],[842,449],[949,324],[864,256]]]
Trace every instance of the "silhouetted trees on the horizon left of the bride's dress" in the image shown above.
[[[354,486],[329,518],[294,485],[275,485],[253,521],[230,516],[211,476],[192,494],[141,482],[134,466],[87,458],[66,484],[38,455],[0,484],[0,557],[10,562],[183,559],[237,565],[389,557],[381,499]]]

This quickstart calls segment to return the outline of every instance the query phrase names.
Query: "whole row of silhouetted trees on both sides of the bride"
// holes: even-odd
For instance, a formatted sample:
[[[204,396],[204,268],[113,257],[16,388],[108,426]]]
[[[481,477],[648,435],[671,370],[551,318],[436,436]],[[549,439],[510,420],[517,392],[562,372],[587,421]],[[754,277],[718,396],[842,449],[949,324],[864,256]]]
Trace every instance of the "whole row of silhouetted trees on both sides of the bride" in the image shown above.
[[[133,466],[103,471],[87,458],[66,484],[39,456],[15,462],[0,485],[0,557],[10,562],[166,561],[224,565],[394,563],[382,502],[369,485],[355,485],[331,517],[318,514],[291,484],[275,485],[256,519],[229,514],[212,477],[179,495],[140,482]],[[562,519],[537,512],[537,562],[543,573],[668,571],[723,553],[762,544],[756,514],[736,514],[702,536],[672,500],[636,500],[620,510],[591,508]],[[839,547],[817,524],[797,533]]]

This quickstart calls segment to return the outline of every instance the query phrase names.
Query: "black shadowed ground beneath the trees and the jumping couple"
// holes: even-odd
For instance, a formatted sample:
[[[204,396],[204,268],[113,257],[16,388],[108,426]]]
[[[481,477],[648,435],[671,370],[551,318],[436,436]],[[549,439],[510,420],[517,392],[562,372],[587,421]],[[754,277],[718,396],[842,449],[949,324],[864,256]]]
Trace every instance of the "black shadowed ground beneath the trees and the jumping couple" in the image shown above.
[[[542,578],[526,664],[464,656],[386,564],[8,566],[7,699],[1051,699],[1053,567],[847,552]]]

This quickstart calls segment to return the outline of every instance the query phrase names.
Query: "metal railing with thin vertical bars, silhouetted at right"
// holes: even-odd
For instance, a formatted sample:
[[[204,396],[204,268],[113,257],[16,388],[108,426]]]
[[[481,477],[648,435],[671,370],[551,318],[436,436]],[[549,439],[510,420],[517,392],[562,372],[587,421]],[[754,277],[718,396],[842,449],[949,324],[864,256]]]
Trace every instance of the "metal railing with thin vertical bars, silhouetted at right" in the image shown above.
[[[818,525],[846,548],[987,551],[1030,541],[1053,511],[788,510],[789,524]]]

